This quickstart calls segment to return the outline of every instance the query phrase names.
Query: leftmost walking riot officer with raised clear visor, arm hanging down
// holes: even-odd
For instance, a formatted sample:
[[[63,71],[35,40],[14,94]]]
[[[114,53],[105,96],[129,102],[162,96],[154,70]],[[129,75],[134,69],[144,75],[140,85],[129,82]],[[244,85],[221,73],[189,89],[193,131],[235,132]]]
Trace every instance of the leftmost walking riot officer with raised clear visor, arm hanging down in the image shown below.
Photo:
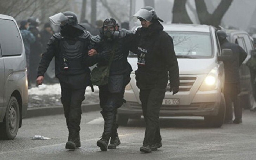
[[[64,107],[66,125],[69,130],[65,148],[81,146],[79,131],[81,122],[81,103],[85,99],[85,88],[90,83],[90,57],[88,46],[91,34],[78,24],[73,12],[63,12],[49,18],[60,26],[60,33],[54,34],[47,44],[39,67],[37,83],[42,84],[44,74],[55,57],[55,75],[61,86],[61,102]]]

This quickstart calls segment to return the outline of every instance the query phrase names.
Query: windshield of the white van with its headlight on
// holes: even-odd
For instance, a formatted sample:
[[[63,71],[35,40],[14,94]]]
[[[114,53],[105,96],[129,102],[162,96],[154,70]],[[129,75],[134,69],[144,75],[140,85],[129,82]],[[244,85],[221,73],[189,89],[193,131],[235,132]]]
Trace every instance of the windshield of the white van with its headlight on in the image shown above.
[[[210,33],[166,31],[173,39],[177,58],[210,58],[212,43]]]

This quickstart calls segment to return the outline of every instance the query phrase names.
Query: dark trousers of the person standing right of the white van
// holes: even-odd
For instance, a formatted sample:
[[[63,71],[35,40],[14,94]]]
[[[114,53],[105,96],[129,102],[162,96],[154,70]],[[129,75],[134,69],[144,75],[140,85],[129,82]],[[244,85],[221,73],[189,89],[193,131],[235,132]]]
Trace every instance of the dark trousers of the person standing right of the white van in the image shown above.
[[[239,104],[239,85],[238,83],[225,83],[224,88],[224,97],[226,101],[226,115],[225,120],[232,120],[233,119],[233,109],[232,103],[234,106],[235,118],[240,119],[242,118],[242,107]]]

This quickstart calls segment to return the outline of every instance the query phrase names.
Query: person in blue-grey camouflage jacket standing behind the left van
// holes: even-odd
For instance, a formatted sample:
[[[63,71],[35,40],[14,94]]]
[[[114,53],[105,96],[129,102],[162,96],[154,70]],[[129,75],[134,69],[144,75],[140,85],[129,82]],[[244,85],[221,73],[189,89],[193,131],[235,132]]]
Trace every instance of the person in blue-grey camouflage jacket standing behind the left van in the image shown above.
[[[30,46],[36,41],[36,37],[28,30],[29,23],[28,21],[24,20],[20,22],[20,33],[23,39],[25,53],[26,53],[26,62],[27,62],[27,81],[28,81],[28,88],[31,87],[30,84]]]

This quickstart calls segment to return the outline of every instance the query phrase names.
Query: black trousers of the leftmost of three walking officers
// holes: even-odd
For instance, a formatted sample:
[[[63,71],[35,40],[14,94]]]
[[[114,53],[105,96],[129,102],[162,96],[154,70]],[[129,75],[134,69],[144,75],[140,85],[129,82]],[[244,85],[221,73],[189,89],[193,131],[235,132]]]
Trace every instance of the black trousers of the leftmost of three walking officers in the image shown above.
[[[80,131],[81,123],[81,104],[85,99],[84,93],[85,88],[82,89],[71,89],[65,88],[65,85],[61,86],[61,102],[64,107],[64,114],[66,118],[66,124],[69,131],[75,130]]]

